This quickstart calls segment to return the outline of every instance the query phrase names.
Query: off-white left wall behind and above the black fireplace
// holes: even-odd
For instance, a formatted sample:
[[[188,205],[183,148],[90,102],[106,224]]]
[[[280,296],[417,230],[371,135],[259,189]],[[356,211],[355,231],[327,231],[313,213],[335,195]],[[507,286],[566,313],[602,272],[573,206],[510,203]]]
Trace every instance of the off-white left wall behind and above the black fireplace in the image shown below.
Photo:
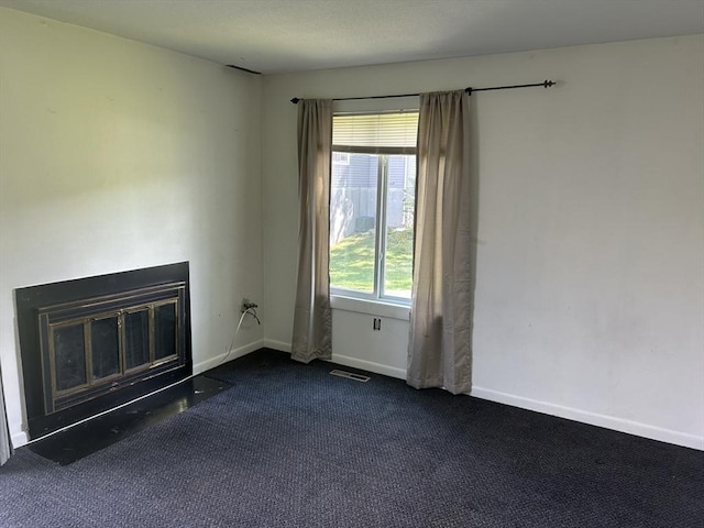
[[[190,261],[196,371],[263,297],[261,79],[0,8],[0,362],[22,432],[13,289]],[[261,345],[243,324],[238,352]]]

